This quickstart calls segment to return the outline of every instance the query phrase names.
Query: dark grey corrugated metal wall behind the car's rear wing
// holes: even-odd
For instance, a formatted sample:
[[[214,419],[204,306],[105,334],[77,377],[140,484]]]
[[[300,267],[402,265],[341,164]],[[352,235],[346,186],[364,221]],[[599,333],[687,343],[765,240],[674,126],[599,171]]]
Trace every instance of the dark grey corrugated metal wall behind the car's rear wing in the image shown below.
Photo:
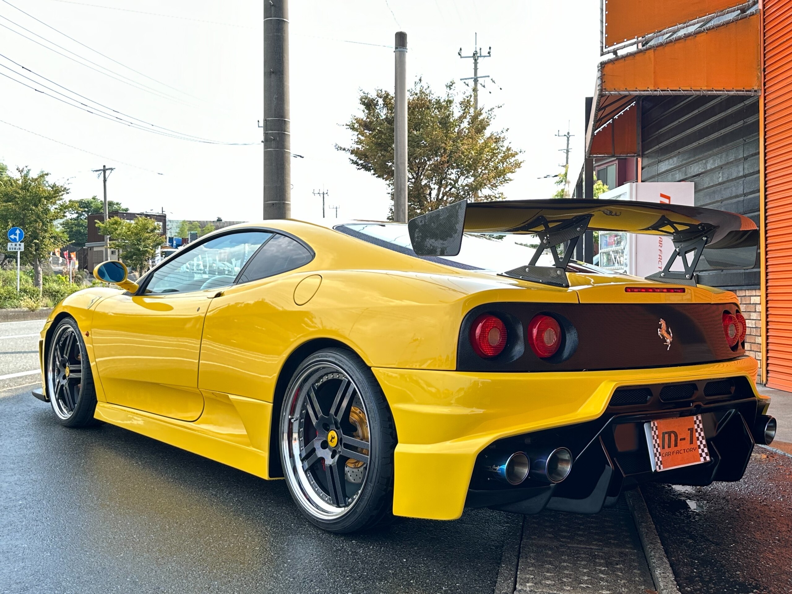
[[[759,97],[642,98],[642,181],[692,181],[695,204],[759,221]],[[759,270],[701,272],[714,287],[758,287]]]

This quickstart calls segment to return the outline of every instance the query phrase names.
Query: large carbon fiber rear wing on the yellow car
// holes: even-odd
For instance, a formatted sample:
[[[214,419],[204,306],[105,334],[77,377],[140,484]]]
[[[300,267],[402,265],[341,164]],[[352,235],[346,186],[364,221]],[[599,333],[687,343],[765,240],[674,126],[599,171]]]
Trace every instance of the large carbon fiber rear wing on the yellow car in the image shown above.
[[[676,250],[661,272],[646,278],[687,285],[695,285],[697,268],[754,268],[759,245],[756,224],[743,215],[625,200],[461,200],[417,216],[408,227],[413,249],[421,256],[456,256],[466,231],[535,234],[539,247],[531,262],[505,274],[561,287],[569,286],[565,268],[586,230],[670,236]],[[546,249],[554,266],[537,266]],[[678,257],[684,269],[672,271]]]

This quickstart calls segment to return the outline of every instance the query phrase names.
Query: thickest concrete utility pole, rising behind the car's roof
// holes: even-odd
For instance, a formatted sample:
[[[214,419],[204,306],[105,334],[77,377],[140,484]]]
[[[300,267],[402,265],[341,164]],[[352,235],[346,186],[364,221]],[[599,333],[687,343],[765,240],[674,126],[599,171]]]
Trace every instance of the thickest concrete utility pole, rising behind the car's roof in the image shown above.
[[[264,218],[291,217],[288,0],[264,2]]]

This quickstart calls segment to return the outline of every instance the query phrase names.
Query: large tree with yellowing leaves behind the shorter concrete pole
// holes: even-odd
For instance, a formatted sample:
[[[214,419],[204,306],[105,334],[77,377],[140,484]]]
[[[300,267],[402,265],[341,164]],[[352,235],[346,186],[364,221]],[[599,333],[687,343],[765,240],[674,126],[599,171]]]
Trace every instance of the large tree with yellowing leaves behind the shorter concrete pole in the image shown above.
[[[384,89],[360,94],[363,114],[345,124],[352,146],[339,147],[358,169],[394,183],[394,97]],[[494,109],[474,111],[473,97],[432,93],[421,79],[408,93],[408,215],[414,217],[457,200],[497,200],[500,188],[522,166],[509,146],[508,130],[491,131]],[[393,208],[391,207],[391,216]]]

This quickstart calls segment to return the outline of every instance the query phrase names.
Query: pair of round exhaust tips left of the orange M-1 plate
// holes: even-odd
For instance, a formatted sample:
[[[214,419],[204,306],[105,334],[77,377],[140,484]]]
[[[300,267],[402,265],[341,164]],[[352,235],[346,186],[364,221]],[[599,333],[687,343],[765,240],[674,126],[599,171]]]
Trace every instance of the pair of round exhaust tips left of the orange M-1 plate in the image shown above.
[[[529,476],[539,482],[562,482],[572,470],[572,452],[566,447],[485,455],[485,469],[497,480],[520,485]]]

